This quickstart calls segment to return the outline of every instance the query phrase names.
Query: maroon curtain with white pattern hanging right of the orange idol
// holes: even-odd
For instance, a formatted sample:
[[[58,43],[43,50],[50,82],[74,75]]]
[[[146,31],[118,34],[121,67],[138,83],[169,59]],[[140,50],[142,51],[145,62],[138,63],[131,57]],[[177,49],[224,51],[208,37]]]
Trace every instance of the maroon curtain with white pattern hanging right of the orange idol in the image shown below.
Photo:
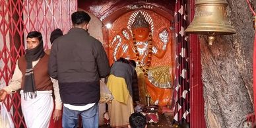
[[[176,0],[176,75],[174,88],[174,123],[189,123],[189,43],[185,36],[186,1]]]

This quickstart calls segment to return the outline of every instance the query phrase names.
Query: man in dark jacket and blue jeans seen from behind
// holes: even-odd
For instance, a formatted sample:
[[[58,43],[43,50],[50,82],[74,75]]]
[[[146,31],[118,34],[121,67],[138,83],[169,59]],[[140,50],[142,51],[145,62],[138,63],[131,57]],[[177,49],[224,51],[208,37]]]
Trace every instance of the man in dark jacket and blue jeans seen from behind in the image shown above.
[[[77,127],[79,115],[84,128],[98,127],[99,81],[110,73],[108,57],[102,44],[87,32],[90,16],[77,11],[71,18],[74,28],[51,47],[48,72],[59,80],[63,128]]]

